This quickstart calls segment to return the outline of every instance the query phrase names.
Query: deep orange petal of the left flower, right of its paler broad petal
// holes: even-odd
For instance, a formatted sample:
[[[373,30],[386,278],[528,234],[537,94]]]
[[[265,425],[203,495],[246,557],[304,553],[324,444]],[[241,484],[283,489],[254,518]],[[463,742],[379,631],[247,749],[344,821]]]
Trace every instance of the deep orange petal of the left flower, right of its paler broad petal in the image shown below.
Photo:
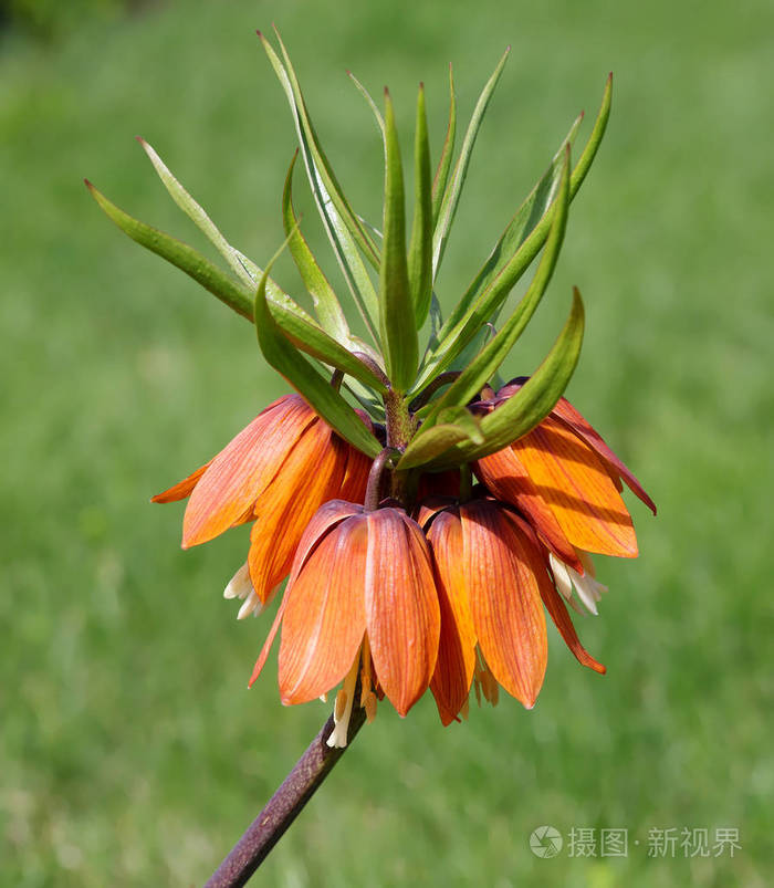
[[[330,426],[314,422],[299,438],[255,505],[250,532],[250,579],[261,600],[290,573],[306,525],[338,492],[347,445]]]

